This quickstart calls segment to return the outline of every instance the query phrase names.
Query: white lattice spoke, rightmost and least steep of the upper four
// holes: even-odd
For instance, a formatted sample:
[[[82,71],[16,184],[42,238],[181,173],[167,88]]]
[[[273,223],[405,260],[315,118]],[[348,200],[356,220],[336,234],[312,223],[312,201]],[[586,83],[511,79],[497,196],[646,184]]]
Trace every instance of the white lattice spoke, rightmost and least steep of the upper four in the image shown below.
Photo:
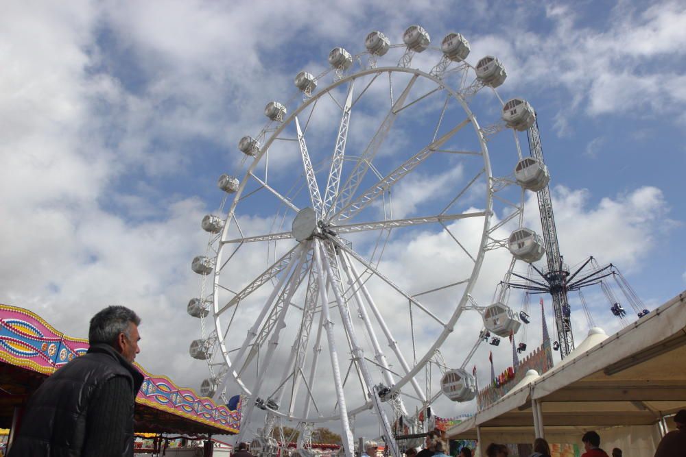
[[[357,199],[348,203],[338,213],[334,214],[330,219],[340,221],[344,219],[350,219],[351,217],[355,216],[355,214],[369,206],[370,203],[372,203],[372,201],[375,201],[375,199],[377,199],[379,195],[383,195],[383,193],[387,192],[390,188],[392,188],[392,186],[394,186],[400,180],[402,180],[403,177],[407,175],[407,173],[410,173],[410,171],[414,170],[416,166],[427,160],[427,158],[429,158],[434,153],[434,151],[438,149],[438,147],[445,144],[447,140],[452,138],[457,132],[459,132],[462,129],[462,127],[464,127],[470,122],[471,119],[465,119],[464,121],[453,127],[449,132],[438,138],[438,140],[429,143],[427,147],[423,148],[421,151],[416,153],[410,159],[406,160],[403,164],[398,166],[388,175],[383,177],[381,180],[377,182],[377,184],[374,184],[365,193],[357,197]]]

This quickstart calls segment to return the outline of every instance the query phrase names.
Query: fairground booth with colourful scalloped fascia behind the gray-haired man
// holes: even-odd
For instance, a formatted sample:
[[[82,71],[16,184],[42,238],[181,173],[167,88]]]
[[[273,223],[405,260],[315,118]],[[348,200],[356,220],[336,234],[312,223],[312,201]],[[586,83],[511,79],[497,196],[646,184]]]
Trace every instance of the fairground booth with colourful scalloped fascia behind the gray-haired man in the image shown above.
[[[59,332],[33,312],[0,305],[0,428],[9,429],[7,444],[11,445],[21,423],[23,406],[40,383],[87,350],[87,340]],[[230,410],[135,365],[145,376],[136,397],[135,431],[141,436],[137,452],[160,454],[171,439],[174,445],[200,442],[200,454],[193,455],[211,456],[213,448],[227,447],[212,436],[238,433],[241,402]]]

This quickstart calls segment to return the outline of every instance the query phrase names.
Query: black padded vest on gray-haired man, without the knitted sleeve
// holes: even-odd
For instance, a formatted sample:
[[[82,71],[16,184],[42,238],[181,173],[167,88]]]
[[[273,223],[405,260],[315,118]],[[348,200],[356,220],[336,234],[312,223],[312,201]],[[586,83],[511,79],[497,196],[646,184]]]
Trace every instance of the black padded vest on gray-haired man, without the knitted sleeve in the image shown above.
[[[109,345],[93,345],[49,376],[29,399],[8,457],[80,457],[86,438],[88,406],[97,388],[122,376],[131,397],[123,456],[133,456],[134,400],[143,375]]]

